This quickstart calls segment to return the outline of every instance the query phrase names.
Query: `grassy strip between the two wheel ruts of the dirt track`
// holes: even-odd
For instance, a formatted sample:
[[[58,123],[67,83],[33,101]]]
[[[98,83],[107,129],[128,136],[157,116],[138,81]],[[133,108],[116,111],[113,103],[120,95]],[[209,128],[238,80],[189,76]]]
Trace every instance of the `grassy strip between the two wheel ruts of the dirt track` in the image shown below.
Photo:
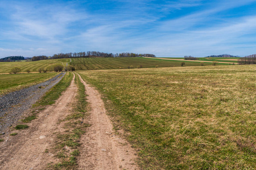
[[[75,83],[78,91],[76,96],[76,105],[73,113],[69,114],[64,121],[63,133],[56,134],[56,146],[51,148],[56,158],[60,159],[59,163],[49,164],[48,169],[76,169],[76,160],[79,156],[79,146],[81,135],[85,133],[89,126],[84,123],[84,118],[88,116],[88,103],[86,102],[85,87],[81,83],[79,76],[76,76]],[[46,151],[48,152],[48,150]]]

